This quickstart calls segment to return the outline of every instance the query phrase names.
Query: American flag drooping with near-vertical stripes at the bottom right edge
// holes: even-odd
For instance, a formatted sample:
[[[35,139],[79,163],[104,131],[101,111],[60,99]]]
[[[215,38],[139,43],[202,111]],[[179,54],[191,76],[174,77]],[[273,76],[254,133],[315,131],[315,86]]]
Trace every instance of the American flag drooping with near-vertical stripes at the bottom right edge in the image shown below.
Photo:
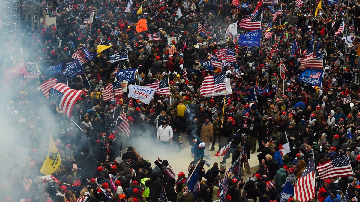
[[[315,196],[315,166],[314,158],[311,157],[306,169],[294,187],[294,198],[299,201],[310,201]]]

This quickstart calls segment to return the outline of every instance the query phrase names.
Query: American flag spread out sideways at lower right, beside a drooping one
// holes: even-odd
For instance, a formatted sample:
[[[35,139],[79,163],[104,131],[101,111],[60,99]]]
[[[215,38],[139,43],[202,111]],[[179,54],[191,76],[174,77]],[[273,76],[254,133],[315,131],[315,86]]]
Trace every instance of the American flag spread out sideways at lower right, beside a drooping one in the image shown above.
[[[316,167],[321,179],[352,176],[352,168],[347,155],[339,156],[336,159],[325,162]]]

